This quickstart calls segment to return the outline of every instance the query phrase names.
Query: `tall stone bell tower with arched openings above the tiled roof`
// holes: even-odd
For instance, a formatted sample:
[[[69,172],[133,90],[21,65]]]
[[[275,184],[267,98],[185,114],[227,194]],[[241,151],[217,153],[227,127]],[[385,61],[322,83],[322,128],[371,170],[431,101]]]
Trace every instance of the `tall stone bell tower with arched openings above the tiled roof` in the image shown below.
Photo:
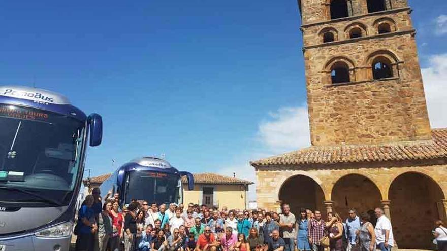
[[[299,0],[314,146],[429,140],[407,0]]]

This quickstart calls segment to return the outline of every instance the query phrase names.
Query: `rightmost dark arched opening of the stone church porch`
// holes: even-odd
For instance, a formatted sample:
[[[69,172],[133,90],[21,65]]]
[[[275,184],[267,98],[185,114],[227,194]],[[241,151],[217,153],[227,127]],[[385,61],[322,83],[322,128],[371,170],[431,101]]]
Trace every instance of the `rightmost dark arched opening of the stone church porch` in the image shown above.
[[[388,198],[399,248],[429,249],[434,221],[445,218],[442,204],[445,195],[439,183],[425,173],[403,172],[391,182]]]

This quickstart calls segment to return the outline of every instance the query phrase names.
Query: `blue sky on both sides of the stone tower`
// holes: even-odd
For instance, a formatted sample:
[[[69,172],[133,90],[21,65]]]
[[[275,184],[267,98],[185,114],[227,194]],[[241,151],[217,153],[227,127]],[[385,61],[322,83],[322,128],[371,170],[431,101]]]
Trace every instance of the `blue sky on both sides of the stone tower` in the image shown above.
[[[436,82],[447,2],[409,2]],[[296,0],[4,1],[0,19],[0,83],[35,82],[103,116],[92,175],[164,153],[182,170],[253,179],[249,160],[308,144]]]

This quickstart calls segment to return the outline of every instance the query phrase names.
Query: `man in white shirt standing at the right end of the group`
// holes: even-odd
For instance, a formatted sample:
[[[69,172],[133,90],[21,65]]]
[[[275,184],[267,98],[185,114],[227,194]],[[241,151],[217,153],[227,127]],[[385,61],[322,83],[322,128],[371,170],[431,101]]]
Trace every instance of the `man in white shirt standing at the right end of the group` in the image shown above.
[[[374,228],[375,243],[381,251],[391,251],[394,246],[393,228],[390,220],[384,215],[382,208],[374,210],[377,223]]]

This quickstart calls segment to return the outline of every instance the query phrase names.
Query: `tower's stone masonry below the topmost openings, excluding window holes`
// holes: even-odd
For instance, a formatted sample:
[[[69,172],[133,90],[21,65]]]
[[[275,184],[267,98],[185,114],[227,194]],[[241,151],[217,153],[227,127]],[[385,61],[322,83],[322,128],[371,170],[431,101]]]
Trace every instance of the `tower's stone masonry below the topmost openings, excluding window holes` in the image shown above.
[[[358,26],[372,33],[380,17],[362,18]],[[383,17],[382,17],[383,18]],[[312,145],[379,144],[428,140],[430,123],[416,42],[406,11],[387,15],[397,30],[348,39],[341,34],[349,22],[304,28],[304,58]],[[318,30],[331,25],[344,41],[317,44]],[[402,29],[402,30],[401,30]],[[341,39],[341,38],[340,38]],[[374,80],[372,60],[388,58],[393,78]],[[350,82],[331,83],[331,65],[344,62]]]

